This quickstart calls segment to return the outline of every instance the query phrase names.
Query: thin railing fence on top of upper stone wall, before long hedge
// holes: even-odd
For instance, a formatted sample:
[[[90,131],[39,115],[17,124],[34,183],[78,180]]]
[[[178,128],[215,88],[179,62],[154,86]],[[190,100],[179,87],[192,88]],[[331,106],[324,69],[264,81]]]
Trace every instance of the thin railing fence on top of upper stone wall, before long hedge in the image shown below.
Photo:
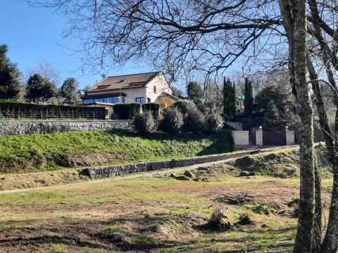
[[[0,112],[0,120],[27,119],[106,119],[106,112]]]

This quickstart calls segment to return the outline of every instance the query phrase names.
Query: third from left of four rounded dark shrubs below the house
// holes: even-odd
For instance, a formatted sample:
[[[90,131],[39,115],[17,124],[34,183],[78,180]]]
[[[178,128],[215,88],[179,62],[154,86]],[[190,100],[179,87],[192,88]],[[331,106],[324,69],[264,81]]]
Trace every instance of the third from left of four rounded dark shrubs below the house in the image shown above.
[[[206,122],[204,114],[198,109],[188,110],[184,115],[185,132],[200,133],[206,129]]]

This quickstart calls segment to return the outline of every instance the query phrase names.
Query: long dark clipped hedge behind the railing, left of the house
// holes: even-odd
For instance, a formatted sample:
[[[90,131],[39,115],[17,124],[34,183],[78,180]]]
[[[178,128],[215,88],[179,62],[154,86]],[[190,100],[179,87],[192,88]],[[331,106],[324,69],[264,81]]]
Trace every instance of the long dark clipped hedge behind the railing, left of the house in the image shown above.
[[[39,105],[0,100],[0,117],[27,119],[105,119],[106,108],[83,105]]]

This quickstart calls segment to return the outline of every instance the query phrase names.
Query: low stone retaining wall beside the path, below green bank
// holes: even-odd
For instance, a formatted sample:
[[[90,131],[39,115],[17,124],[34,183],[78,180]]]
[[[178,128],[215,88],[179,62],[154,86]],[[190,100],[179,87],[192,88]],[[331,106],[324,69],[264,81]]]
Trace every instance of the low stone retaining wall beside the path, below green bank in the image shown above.
[[[121,176],[127,174],[134,174],[138,172],[154,171],[156,169],[172,169],[176,167],[185,167],[194,164],[203,164],[206,162],[215,162],[226,160],[235,157],[244,157],[253,153],[258,153],[258,150],[251,150],[237,154],[220,154],[207,155],[201,157],[191,157],[179,160],[164,160],[157,162],[139,162],[135,164],[120,164],[102,167],[92,167],[86,169],[91,179],[105,179],[113,176]]]

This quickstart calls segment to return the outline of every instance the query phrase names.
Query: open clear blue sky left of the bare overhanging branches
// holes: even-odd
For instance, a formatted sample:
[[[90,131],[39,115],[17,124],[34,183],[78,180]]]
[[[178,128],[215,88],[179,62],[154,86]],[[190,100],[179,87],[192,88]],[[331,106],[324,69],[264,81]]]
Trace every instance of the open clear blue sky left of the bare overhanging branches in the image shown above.
[[[57,15],[50,8],[32,8],[21,0],[1,0],[0,4],[0,44],[8,45],[8,57],[18,64],[21,72],[34,68],[39,61],[46,60],[60,72],[61,82],[67,77],[75,77],[80,88],[94,84],[101,74],[81,71],[81,55],[67,48],[80,50],[78,41],[64,39],[67,19]],[[108,75],[149,72],[150,67],[131,64],[110,70]]]

